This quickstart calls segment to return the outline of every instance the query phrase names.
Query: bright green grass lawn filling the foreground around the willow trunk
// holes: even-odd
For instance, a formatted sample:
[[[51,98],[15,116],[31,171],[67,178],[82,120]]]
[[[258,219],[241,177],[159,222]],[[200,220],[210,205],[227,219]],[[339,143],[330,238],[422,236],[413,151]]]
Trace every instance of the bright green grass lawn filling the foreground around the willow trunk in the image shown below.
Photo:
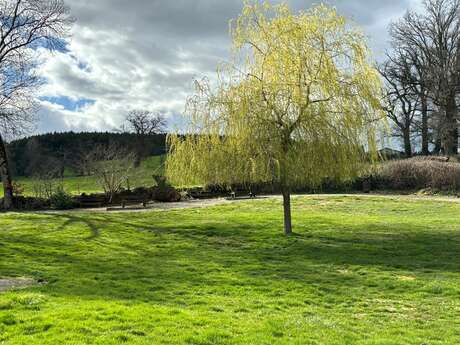
[[[0,344],[459,344],[460,204],[293,207],[0,215]]]

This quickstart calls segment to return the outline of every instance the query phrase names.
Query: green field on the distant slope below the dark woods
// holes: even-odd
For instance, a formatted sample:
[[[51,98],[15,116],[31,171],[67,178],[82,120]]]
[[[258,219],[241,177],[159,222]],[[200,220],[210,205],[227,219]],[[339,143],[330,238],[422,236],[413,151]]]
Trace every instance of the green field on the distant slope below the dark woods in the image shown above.
[[[153,186],[154,181],[152,175],[163,173],[163,160],[164,158],[162,156],[153,156],[144,160],[141,166],[132,172],[130,178],[131,188]],[[15,181],[19,182],[24,187],[25,195],[33,195],[34,180],[32,178],[18,177]],[[72,176],[70,172],[66,174],[64,179],[59,179],[57,181],[62,182],[64,189],[72,194],[96,193],[102,191],[94,176]],[[3,189],[0,188],[0,196],[2,195]]]

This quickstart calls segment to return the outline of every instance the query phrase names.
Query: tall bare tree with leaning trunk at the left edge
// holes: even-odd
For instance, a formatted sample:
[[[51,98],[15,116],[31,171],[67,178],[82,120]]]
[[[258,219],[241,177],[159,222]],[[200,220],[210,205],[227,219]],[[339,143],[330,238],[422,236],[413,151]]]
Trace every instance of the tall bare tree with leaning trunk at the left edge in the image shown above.
[[[3,136],[30,124],[40,84],[34,73],[37,48],[61,48],[72,21],[63,0],[0,2],[0,174],[6,209],[12,207],[13,187]]]

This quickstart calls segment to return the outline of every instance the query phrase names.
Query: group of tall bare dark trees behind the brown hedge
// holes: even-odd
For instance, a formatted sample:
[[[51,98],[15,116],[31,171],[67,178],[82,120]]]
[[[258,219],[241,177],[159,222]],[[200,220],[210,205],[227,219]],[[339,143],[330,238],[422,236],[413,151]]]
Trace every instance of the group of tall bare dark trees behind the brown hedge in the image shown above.
[[[447,155],[458,152],[460,95],[460,0],[427,0],[424,13],[408,12],[390,28],[392,52],[386,65],[393,70],[405,66],[405,73],[393,81],[412,96],[407,105],[415,109],[411,135],[421,141],[421,152]],[[395,64],[395,61],[397,62]],[[388,70],[387,70],[388,72]],[[394,89],[388,83],[389,90]],[[393,109],[397,117],[404,117],[394,98]],[[409,101],[409,100],[408,100]],[[401,132],[402,133],[402,132]],[[403,136],[403,135],[402,135]]]

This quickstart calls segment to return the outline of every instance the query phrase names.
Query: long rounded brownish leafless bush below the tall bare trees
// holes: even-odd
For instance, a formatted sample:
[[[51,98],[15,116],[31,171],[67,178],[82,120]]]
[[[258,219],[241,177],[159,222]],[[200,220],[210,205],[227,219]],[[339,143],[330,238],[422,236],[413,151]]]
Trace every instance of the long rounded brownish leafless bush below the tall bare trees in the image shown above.
[[[440,157],[391,161],[380,166],[375,179],[389,189],[454,192],[460,190],[460,164]]]

